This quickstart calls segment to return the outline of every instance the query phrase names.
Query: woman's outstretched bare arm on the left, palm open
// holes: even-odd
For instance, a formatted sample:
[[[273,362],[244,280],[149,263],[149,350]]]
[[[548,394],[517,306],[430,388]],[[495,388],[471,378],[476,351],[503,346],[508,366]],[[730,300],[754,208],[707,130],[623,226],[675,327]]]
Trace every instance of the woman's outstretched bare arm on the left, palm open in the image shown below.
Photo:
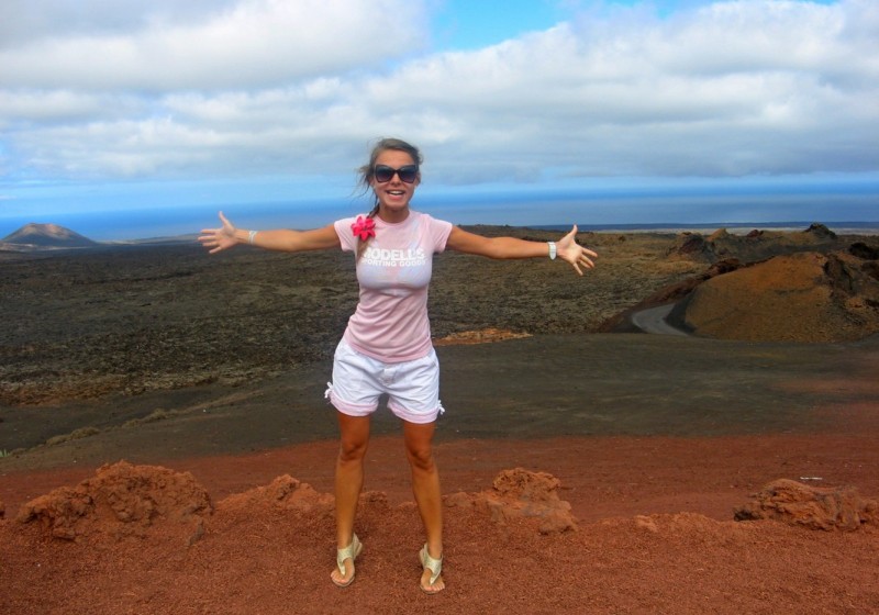
[[[258,232],[245,231],[244,228],[236,228],[223,215],[223,212],[220,212],[220,222],[223,223],[220,228],[204,228],[199,237],[199,242],[205,248],[209,248],[210,254],[235,247],[238,244],[252,244],[260,248],[280,251],[325,249],[341,245],[336,230],[332,224],[313,231],[292,231],[287,228]]]

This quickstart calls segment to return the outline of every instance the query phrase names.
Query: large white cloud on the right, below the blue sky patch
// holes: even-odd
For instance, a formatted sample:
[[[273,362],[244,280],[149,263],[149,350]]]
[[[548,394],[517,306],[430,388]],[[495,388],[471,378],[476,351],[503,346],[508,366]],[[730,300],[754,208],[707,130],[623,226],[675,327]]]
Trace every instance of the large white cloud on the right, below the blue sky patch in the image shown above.
[[[876,169],[879,29],[847,36],[875,13],[864,1],[730,2],[670,20],[585,16],[410,63],[368,91],[416,130],[425,110],[443,112],[456,148],[496,163],[488,172]]]

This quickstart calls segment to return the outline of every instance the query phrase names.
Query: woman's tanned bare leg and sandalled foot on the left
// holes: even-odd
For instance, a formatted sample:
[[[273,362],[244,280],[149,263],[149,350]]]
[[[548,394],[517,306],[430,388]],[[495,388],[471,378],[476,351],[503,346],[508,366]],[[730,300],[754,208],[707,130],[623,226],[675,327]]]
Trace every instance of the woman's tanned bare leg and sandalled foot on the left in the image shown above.
[[[357,513],[357,501],[364,487],[364,457],[369,445],[369,417],[348,416],[341,412],[338,428],[341,445],[336,459],[335,495],[336,495],[336,544],[344,549],[354,538],[354,517]],[[344,582],[354,575],[354,561],[345,560],[345,575],[334,567],[332,577],[336,582]]]

